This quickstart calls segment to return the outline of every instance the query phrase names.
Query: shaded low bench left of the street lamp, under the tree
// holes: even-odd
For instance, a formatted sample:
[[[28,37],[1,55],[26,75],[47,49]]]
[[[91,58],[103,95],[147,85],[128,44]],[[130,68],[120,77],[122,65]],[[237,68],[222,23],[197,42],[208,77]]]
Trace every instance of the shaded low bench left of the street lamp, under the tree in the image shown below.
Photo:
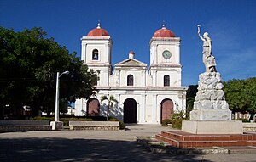
[[[0,120],[0,132],[49,130],[49,120]]]

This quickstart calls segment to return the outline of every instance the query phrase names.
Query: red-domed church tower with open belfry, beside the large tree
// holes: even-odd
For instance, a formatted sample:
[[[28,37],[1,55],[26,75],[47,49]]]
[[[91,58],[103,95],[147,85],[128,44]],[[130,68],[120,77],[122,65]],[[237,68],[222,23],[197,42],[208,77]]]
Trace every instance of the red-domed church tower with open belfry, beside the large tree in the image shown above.
[[[97,86],[108,87],[109,75],[111,75],[111,52],[113,42],[108,31],[101,28],[98,23],[96,29],[91,30],[87,36],[81,38],[81,59],[89,69],[100,70]]]

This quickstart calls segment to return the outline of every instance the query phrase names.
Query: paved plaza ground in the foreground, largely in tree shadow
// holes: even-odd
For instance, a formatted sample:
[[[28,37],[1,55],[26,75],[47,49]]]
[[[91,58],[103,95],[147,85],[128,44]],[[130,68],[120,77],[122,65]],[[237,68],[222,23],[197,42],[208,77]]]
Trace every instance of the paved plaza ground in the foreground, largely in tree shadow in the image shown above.
[[[256,161],[256,154],[152,154],[134,141],[134,137],[154,136],[168,129],[131,125],[126,131],[1,133],[0,161]]]

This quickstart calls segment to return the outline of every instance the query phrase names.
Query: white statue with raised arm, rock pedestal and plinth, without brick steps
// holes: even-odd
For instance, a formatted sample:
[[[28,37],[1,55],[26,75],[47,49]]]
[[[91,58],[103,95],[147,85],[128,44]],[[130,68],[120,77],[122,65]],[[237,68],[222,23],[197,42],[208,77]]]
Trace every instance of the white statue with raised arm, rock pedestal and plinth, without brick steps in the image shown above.
[[[183,120],[182,131],[194,134],[242,134],[241,121],[231,120],[221,75],[216,70],[212,55],[212,40],[207,32],[201,36],[201,26],[197,27],[203,42],[202,61],[206,72],[199,75],[194,109],[190,112],[190,120]]]

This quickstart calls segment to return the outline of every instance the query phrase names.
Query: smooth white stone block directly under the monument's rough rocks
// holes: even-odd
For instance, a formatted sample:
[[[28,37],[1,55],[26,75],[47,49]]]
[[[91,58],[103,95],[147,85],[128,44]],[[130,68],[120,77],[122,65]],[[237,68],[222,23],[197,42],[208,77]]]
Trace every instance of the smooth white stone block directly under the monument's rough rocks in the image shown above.
[[[230,109],[193,109],[190,120],[227,121],[231,119]]]

